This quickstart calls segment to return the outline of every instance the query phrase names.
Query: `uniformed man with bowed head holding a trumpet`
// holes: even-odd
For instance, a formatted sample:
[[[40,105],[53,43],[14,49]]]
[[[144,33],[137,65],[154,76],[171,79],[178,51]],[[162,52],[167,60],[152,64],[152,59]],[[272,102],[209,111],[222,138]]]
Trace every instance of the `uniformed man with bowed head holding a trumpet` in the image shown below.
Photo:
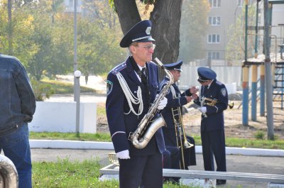
[[[199,67],[198,82],[200,96],[194,102],[200,105],[202,112],[201,140],[204,170],[214,171],[214,157],[217,171],[226,172],[226,148],[224,133],[224,113],[228,106],[228,92],[217,74],[207,68]],[[225,179],[217,179],[217,184],[226,184]]]

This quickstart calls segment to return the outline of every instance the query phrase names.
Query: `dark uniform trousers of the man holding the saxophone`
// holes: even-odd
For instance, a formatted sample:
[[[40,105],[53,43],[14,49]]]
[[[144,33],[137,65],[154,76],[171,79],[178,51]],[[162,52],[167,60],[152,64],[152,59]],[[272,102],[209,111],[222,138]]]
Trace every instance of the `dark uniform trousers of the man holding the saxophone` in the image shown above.
[[[119,187],[138,188],[163,187],[162,154],[132,156],[130,159],[119,159]]]

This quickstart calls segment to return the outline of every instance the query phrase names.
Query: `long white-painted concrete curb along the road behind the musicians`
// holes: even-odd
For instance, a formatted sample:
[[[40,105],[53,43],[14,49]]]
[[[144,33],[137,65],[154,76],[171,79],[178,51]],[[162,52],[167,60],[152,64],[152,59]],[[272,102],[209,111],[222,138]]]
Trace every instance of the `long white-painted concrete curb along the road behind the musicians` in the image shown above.
[[[30,145],[31,148],[114,150],[114,145],[112,145],[111,142],[92,142],[75,140],[30,140]],[[201,145],[195,146],[195,152],[202,153]],[[284,157],[284,150],[226,147],[226,155]]]

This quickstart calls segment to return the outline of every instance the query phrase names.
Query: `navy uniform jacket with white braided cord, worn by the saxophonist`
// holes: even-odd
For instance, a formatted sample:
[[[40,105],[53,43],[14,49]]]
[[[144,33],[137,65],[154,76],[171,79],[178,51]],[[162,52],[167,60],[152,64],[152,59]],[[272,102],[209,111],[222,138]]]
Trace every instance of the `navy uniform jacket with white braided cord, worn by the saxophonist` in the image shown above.
[[[153,62],[146,62],[146,67],[150,102],[153,102],[159,86],[158,66]],[[141,87],[143,113],[140,116],[137,116],[130,111],[129,102],[126,100],[126,96],[121,89],[118,78],[116,77],[116,74],[119,73],[126,80],[133,96],[137,97],[138,87]],[[146,89],[138,79],[136,72],[133,70],[130,57],[109,72],[107,77],[107,89],[107,120],[115,152],[118,153],[122,150],[129,150],[130,157],[151,155],[156,152],[163,153],[163,150],[165,150],[165,143],[161,128],[156,131],[155,136],[151,138],[148,145],[146,145],[143,149],[135,148],[128,139],[129,133],[133,133],[136,130],[141,119],[148,112],[150,107],[150,104],[148,104],[146,100]],[[139,104],[132,104],[132,106],[136,113],[138,113]]]

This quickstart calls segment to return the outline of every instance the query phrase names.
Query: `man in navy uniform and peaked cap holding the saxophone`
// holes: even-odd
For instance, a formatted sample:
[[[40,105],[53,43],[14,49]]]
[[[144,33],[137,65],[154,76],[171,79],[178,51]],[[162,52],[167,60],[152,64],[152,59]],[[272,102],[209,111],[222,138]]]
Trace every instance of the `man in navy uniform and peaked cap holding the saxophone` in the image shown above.
[[[163,187],[162,129],[155,132],[145,148],[135,148],[129,140],[158,94],[158,66],[151,62],[154,42],[151,21],[137,23],[120,43],[121,48],[129,48],[131,55],[107,77],[107,121],[119,158],[121,188],[136,188],[139,184],[145,188]],[[166,104],[164,97],[157,109],[162,110]]]

